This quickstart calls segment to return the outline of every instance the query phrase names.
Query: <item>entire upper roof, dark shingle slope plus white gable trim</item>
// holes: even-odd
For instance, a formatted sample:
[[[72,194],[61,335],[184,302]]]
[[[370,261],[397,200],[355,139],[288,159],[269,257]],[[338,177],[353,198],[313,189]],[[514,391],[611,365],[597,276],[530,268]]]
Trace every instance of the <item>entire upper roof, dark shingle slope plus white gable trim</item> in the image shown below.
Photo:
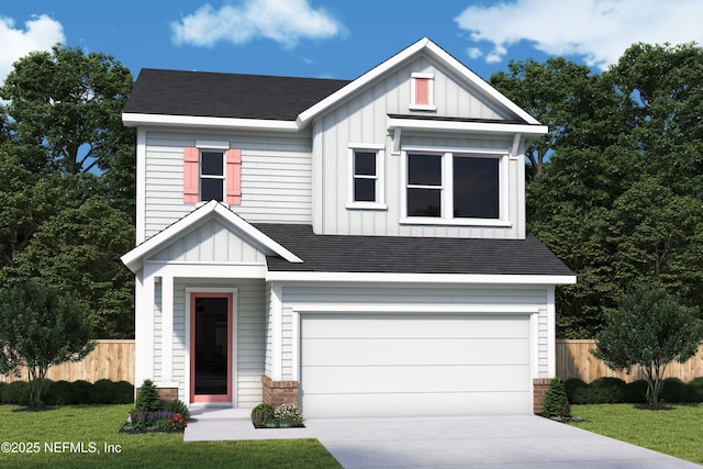
[[[527,126],[511,132],[546,133],[546,126],[427,37],[352,81],[146,68],[134,83],[122,120],[127,126],[236,126],[297,132],[420,54],[439,62],[475,92],[504,109],[512,119],[503,124]],[[528,129],[532,126],[535,129]]]

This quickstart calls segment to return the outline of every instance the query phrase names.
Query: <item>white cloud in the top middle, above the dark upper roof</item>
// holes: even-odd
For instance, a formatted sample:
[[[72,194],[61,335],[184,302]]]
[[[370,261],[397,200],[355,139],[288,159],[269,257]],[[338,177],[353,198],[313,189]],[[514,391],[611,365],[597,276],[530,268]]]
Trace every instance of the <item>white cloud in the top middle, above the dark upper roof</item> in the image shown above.
[[[171,41],[177,45],[213,46],[264,37],[294,47],[303,38],[327,38],[345,31],[324,9],[313,9],[309,0],[244,0],[220,10],[207,3],[172,22]]]

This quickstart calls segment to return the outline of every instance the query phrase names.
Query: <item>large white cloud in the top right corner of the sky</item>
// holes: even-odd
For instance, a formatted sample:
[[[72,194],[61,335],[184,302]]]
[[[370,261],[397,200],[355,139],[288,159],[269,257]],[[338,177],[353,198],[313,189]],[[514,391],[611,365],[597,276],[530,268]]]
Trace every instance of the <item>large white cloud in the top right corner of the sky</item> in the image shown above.
[[[515,0],[468,7],[455,21],[473,42],[492,44],[481,51],[488,63],[503,60],[510,46],[526,41],[546,54],[581,56],[605,69],[637,42],[703,43],[702,18],[700,0]]]

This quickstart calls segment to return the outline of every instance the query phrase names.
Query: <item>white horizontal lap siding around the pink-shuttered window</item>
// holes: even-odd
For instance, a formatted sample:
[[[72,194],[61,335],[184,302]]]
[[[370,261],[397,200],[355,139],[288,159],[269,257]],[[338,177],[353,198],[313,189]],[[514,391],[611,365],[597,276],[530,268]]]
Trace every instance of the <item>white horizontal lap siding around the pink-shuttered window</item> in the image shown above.
[[[310,132],[212,134],[146,132],[145,238],[196,209],[183,203],[183,148],[197,141],[230,142],[242,150],[242,203],[231,210],[249,223],[312,222]]]

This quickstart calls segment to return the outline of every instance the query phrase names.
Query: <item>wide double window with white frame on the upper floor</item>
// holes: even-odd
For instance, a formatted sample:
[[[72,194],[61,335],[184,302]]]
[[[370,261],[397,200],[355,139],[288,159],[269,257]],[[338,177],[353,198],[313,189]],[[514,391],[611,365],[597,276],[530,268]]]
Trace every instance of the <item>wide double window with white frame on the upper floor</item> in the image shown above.
[[[505,225],[505,155],[404,150],[404,223]],[[434,222],[433,222],[434,220]]]

